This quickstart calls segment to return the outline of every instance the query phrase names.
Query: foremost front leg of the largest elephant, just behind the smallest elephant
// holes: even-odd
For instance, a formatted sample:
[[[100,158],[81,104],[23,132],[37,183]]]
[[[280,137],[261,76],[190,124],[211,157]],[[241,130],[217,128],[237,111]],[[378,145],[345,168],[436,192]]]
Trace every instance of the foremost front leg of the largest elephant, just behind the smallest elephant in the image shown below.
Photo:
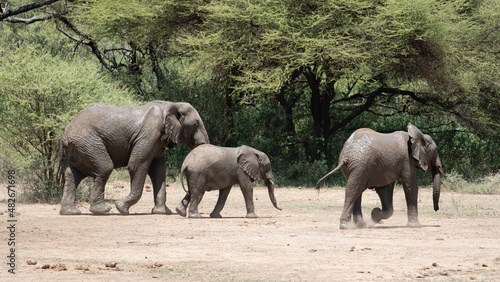
[[[164,158],[157,158],[151,162],[149,166],[149,177],[151,178],[151,182],[153,184],[153,194],[154,194],[154,202],[155,206],[151,210],[153,214],[172,214],[172,211],[167,208],[166,200],[167,200],[167,192],[165,189],[165,160]]]

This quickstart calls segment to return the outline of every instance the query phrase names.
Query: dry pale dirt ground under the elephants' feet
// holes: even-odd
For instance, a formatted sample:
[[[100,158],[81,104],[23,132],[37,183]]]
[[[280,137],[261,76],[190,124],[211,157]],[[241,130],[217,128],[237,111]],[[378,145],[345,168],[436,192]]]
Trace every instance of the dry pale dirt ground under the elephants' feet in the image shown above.
[[[123,184],[107,186],[110,205],[128,193]],[[367,229],[339,230],[343,193],[278,188],[278,211],[267,190],[256,187],[258,219],[244,217],[238,187],[222,219],[208,215],[216,191],[205,194],[202,219],[151,215],[153,195],[146,191],[129,216],[119,215],[114,205],[109,215],[91,215],[88,203],[81,203],[83,215],[60,216],[58,205],[17,204],[14,275],[5,263],[9,213],[2,201],[0,281],[500,280],[500,195],[442,192],[436,213],[431,191],[421,189],[423,227],[410,229],[404,193],[397,188],[393,217]],[[175,211],[183,195],[179,185],[170,184],[168,207]],[[375,192],[363,194],[367,222],[378,205]],[[116,266],[109,267],[111,262]]]

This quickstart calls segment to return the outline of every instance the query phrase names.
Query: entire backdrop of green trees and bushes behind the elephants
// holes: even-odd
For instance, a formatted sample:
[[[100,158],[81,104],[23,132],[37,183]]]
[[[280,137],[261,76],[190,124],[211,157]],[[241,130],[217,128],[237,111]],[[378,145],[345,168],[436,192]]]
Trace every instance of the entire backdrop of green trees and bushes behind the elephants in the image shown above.
[[[14,163],[24,167],[47,167],[53,153],[36,148],[54,143],[78,109],[134,103],[129,91],[191,103],[213,144],[266,152],[278,185],[314,184],[357,128],[392,132],[409,122],[436,141],[452,178],[500,166],[498,1],[104,0],[44,9],[73,26],[57,17],[0,24],[2,145],[22,152]],[[382,88],[397,91],[371,95]],[[187,153],[166,150],[169,174]],[[344,182],[341,173],[329,181]]]

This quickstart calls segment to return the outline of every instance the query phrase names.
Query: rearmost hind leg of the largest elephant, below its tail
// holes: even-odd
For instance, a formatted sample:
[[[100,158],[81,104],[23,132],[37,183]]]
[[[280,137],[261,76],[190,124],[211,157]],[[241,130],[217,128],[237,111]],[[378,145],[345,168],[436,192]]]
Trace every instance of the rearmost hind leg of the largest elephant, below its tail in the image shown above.
[[[82,212],[75,206],[76,188],[87,177],[72,165],[67,165],[64,171],[64,192],[61,201],[61,215],[78,215]]]

